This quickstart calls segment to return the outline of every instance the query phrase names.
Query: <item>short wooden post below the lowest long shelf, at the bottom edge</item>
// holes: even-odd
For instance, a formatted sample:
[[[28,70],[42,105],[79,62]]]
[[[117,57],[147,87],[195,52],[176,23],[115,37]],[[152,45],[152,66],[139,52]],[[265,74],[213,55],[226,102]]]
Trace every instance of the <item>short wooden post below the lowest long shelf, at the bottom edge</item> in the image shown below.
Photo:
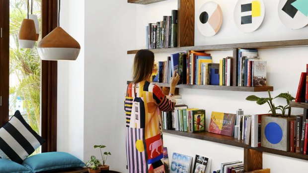
[[[244,149],[244,173],[262,169],[262,152]]]

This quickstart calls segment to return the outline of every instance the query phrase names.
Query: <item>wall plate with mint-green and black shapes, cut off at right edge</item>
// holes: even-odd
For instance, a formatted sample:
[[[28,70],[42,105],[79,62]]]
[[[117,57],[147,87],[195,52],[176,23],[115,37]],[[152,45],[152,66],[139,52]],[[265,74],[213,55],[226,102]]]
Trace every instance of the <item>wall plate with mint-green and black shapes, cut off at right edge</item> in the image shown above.
[[[308,24],[308,0],[280,0],[278,15],[288,28],[303,28]]]

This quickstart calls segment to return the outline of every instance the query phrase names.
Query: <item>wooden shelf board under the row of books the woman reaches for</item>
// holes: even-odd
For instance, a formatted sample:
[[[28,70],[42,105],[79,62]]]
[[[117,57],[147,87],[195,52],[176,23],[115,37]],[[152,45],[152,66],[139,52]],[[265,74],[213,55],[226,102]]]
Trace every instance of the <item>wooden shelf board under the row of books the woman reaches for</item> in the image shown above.
[[[127,84],[130,84],[131,81],[127,81]],[[157,83],[161,87],[170,87],[169,83]],[[176,85],[176,88],[190,88],[190,89],[203,89],[203,90],[222,90],[222,91],[245,91],[245,92],[262,92],[262,91],[274,91],[274,87],[265,86],[265,87],[238,87],[238,86],[219,86],[219,85],[187,85],[180,84]]]

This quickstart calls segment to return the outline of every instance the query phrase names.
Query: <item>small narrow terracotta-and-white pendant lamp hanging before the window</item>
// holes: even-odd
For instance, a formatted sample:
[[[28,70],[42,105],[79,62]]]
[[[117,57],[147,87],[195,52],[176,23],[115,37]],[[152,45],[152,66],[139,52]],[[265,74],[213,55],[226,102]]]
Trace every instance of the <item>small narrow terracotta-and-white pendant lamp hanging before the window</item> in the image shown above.
[[[21,22],[18,41],[20,48],[33,48],[36,41],[35,24],[32,19],[23,19]]]

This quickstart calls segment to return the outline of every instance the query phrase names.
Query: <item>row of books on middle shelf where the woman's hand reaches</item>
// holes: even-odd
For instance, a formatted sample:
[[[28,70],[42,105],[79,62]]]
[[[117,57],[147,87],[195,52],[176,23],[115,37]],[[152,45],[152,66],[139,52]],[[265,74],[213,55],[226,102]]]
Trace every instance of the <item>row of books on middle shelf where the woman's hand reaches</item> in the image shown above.
[[[242,81],[238,86],[265,86],[266,61],[259,58],[240,57],[240,75]],[[186,53],[171,54],[165,61],[156,62],[158,73],[154,82],[169,83],[173,71],[180,75],[178,84],[191,85],[221,85],[232,86],[234,58],[220,59],[219,63],[212,63],[211,54],[190,51]],[[246,65],[247,64],[247,65]]]

